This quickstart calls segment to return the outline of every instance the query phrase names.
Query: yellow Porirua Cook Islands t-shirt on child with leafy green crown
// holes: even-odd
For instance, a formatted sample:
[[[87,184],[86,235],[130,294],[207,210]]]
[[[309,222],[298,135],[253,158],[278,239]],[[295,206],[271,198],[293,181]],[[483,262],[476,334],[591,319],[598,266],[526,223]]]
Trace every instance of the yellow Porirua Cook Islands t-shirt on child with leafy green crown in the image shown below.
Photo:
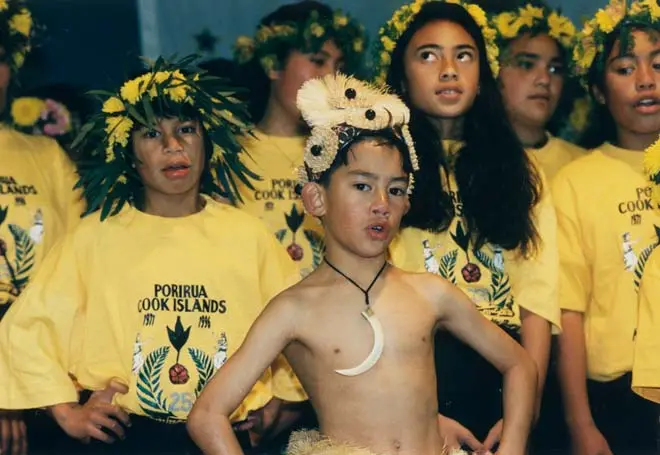
[[[130,413],[185,420],[264,305],[298,279],[263,224],[225,204],[183,218],[94,214],[0,324],[0,409],[77,400],[70,372],[90,390],[127,384],[116,402]],[[304,399],[290,370],[272,374],[280,383],[266,371],[232,418],[272,396]]]

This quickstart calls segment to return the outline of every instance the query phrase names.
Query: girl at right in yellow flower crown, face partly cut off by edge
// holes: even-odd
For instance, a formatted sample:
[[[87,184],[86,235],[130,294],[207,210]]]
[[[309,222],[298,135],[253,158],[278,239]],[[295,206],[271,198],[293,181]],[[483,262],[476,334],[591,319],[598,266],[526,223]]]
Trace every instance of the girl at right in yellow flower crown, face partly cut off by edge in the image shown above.
[[[613,1],[573,54],[598,121],[596,148],[553,183],[560,256],[560,379],[577,454],[655,448],[657,412],[630,391],[639,280],[660,217],[643,151],[660,133],[660,7]]]

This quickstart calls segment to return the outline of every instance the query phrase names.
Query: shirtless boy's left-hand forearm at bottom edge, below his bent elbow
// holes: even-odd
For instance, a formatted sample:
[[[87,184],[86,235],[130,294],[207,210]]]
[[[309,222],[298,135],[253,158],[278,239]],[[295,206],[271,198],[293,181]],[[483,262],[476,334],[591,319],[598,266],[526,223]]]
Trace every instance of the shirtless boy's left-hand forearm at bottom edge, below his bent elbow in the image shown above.
[[[188,417],[187,428],[192,440],[206,455],[243,455],[227,416],[198,410]]]

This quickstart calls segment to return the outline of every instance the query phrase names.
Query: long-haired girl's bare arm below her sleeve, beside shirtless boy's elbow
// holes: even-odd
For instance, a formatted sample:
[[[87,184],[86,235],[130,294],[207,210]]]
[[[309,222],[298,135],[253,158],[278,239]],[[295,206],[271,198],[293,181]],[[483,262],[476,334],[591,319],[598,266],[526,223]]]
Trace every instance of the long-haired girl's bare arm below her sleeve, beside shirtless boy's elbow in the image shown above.
[[[534,420],[538,419],[550,359],[550,322],[534,313],[522,311],[522,345],[536,365],[536,402]]]

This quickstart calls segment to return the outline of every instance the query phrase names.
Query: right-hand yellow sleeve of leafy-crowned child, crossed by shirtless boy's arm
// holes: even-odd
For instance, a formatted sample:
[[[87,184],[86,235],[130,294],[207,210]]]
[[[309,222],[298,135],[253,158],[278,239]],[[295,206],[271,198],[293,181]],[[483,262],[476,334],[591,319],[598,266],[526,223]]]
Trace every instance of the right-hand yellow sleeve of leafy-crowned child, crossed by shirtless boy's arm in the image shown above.
[[[259,276],[263,301],[267,304],[277,294],[299,281],[300,271],[282,246],[265,229],[262,238],[262,245],[259,248],[261,255]],[[286,401],[307,399],[300,381],[283,355],[278,356],[271,369],[274,396]]]

